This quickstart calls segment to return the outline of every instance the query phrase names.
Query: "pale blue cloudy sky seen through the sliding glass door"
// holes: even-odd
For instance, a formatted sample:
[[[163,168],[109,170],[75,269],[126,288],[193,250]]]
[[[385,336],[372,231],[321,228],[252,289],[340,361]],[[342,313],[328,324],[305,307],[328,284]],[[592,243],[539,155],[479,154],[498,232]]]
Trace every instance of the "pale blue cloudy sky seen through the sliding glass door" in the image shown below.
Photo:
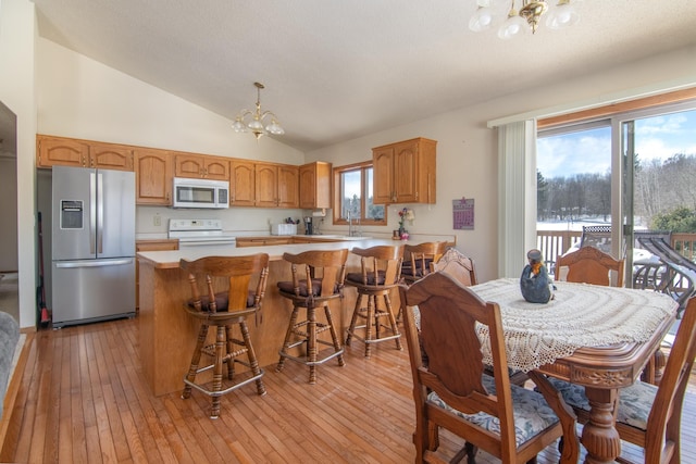
[[[636,121],[639,160],[696,154],[696,110]],[[581,173],[605,174],[611,167],[611,128],[539,138],[536,164],[545,178]]]

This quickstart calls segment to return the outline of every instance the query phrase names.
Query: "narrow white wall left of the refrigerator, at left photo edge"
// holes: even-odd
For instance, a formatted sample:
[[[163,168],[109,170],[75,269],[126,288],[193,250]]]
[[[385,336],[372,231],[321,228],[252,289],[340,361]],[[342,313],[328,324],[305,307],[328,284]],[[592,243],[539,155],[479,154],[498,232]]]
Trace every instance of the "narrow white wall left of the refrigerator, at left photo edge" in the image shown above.
[[[0,101],[17,116],[17,252],[20,326],[36,325],[36,220],[34,208],[36,104],[34,90],[34,3],[0,4]]]

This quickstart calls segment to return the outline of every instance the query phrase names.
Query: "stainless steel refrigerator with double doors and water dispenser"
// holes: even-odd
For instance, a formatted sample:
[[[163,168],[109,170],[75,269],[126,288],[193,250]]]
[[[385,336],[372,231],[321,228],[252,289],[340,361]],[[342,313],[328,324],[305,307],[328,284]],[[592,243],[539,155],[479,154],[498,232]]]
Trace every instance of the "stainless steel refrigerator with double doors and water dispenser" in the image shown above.
[[[53,166],[53,327],[135,315],[135,173]]]

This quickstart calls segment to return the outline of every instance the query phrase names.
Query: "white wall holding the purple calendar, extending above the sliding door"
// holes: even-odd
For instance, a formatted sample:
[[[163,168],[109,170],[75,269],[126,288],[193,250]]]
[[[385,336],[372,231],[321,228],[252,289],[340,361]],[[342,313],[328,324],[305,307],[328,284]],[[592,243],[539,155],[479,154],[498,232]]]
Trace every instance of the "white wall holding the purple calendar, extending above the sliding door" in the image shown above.
[[[497,134],[495,129],[487,128],[488,121],[521,113],[550,115],[685,86],[696,86],[696,47],[573,81],[547,84],[534,91],[500,96],[493,101],[309,152],[307,161],[322,160],[344,165],[371,159],[372,147],[413,137],[437,140],[437,204],[414,205],[415,221],[409,230],[455,234],[457,248],[475,260],[480,279],[487,280],[498,277]],[[510,117],[511,121],[520,118]],[[452,229],[452,200],[462,197],[475,201],[474,230]],[[397,211],[401,206],[389,208],[387,217],[390,226],[397,223]],[[520,272],[525,261],[525,256],[520,256]]]

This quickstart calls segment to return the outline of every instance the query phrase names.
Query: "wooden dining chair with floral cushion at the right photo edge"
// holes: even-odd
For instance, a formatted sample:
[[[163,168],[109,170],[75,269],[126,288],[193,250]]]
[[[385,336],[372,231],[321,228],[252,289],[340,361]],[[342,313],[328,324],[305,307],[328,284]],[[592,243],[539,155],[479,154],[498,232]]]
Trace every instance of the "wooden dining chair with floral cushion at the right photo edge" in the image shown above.
[[[617,430],[622,440],[644,449],[646,464],[682,462],[682,405],[695,356],[696,298],[692,298],[684,310],[659,387],[638,380],[620,390]],[[577,421],[586,423],[589,418],[589,402],[584,387],[558,379],[550,381],[575,410]],[[631,462],[625,457],[618,461]]]

